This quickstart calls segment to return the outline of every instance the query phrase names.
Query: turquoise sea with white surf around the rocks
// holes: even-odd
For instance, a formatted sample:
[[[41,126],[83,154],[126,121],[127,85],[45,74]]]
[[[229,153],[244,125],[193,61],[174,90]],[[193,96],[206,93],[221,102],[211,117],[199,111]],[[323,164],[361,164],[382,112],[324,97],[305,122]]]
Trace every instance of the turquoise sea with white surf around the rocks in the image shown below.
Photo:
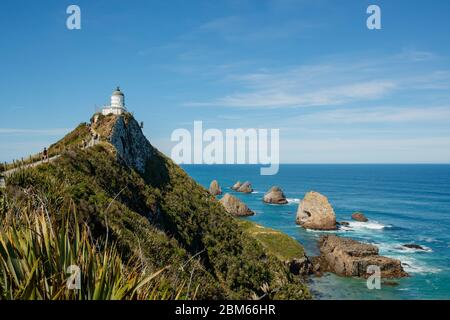
[[[338,221],[350,228],[335,233],[373,243],[380,253],[395,257],[411,275],[398,285],[367,289],[364,280],[327,274],[312,278],[310,287],[319,299],[450,299],[450,165],[282,165],[274,176],[261,176],[253,165],[190,165],[183,168],[200,184],[217,179],[224,192],[241,198],[256,212],[249,220],[278,229],[300,241],[309,255],[318,253],[321,232],[295,224],[298,202],[308,191],[328,197]],[[255,192],[236,194],[237,180],[249,180]],[[289,204],[267,205],[264,193],[280,186]],[[369,223],[352,222],[354,211]],[[427,250],[405,250],[415,243]]]

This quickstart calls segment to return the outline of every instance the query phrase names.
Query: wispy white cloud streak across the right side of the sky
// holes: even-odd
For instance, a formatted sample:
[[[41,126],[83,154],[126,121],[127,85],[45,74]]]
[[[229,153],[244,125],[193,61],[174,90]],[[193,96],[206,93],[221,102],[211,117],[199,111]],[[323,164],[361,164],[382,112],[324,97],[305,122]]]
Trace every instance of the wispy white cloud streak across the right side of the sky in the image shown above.
[[[293,108],[349,105],[381,100],[397,93],[450,88],[448,70],[415,68],[430,60],[428,52],[411,52],[375,59],[339,60],[291,66],[284,70],[258,70],[227,74],[234,92],[185,106],[235,108]],[[331,59],[330,59],[331,60]]]

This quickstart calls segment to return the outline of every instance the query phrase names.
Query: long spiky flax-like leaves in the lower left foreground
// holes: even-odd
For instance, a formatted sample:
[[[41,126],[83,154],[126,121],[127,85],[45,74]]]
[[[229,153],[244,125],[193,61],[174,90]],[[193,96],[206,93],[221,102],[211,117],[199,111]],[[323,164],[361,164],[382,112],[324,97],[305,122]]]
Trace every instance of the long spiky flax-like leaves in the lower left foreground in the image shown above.
[[[56,224],[41,201],[29,194],[23,203],[1,203],[0,299],[164,298],[154,281],[163,270],[146,274],[139,262],[125,265],[115,245],[100,251],[74,213]],[[79,272],[79,289],[68,288],[68,272]]]

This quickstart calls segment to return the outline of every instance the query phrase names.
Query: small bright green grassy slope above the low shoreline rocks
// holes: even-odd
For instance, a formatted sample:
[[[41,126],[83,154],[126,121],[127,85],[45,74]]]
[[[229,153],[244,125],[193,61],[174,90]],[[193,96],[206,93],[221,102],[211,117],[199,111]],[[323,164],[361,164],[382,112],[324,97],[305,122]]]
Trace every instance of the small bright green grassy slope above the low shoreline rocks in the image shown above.
[[[298,241],[280,231],[263,227],[248,220],[240,220],[239,225],[281,261],[301,258],[305,254]]]

